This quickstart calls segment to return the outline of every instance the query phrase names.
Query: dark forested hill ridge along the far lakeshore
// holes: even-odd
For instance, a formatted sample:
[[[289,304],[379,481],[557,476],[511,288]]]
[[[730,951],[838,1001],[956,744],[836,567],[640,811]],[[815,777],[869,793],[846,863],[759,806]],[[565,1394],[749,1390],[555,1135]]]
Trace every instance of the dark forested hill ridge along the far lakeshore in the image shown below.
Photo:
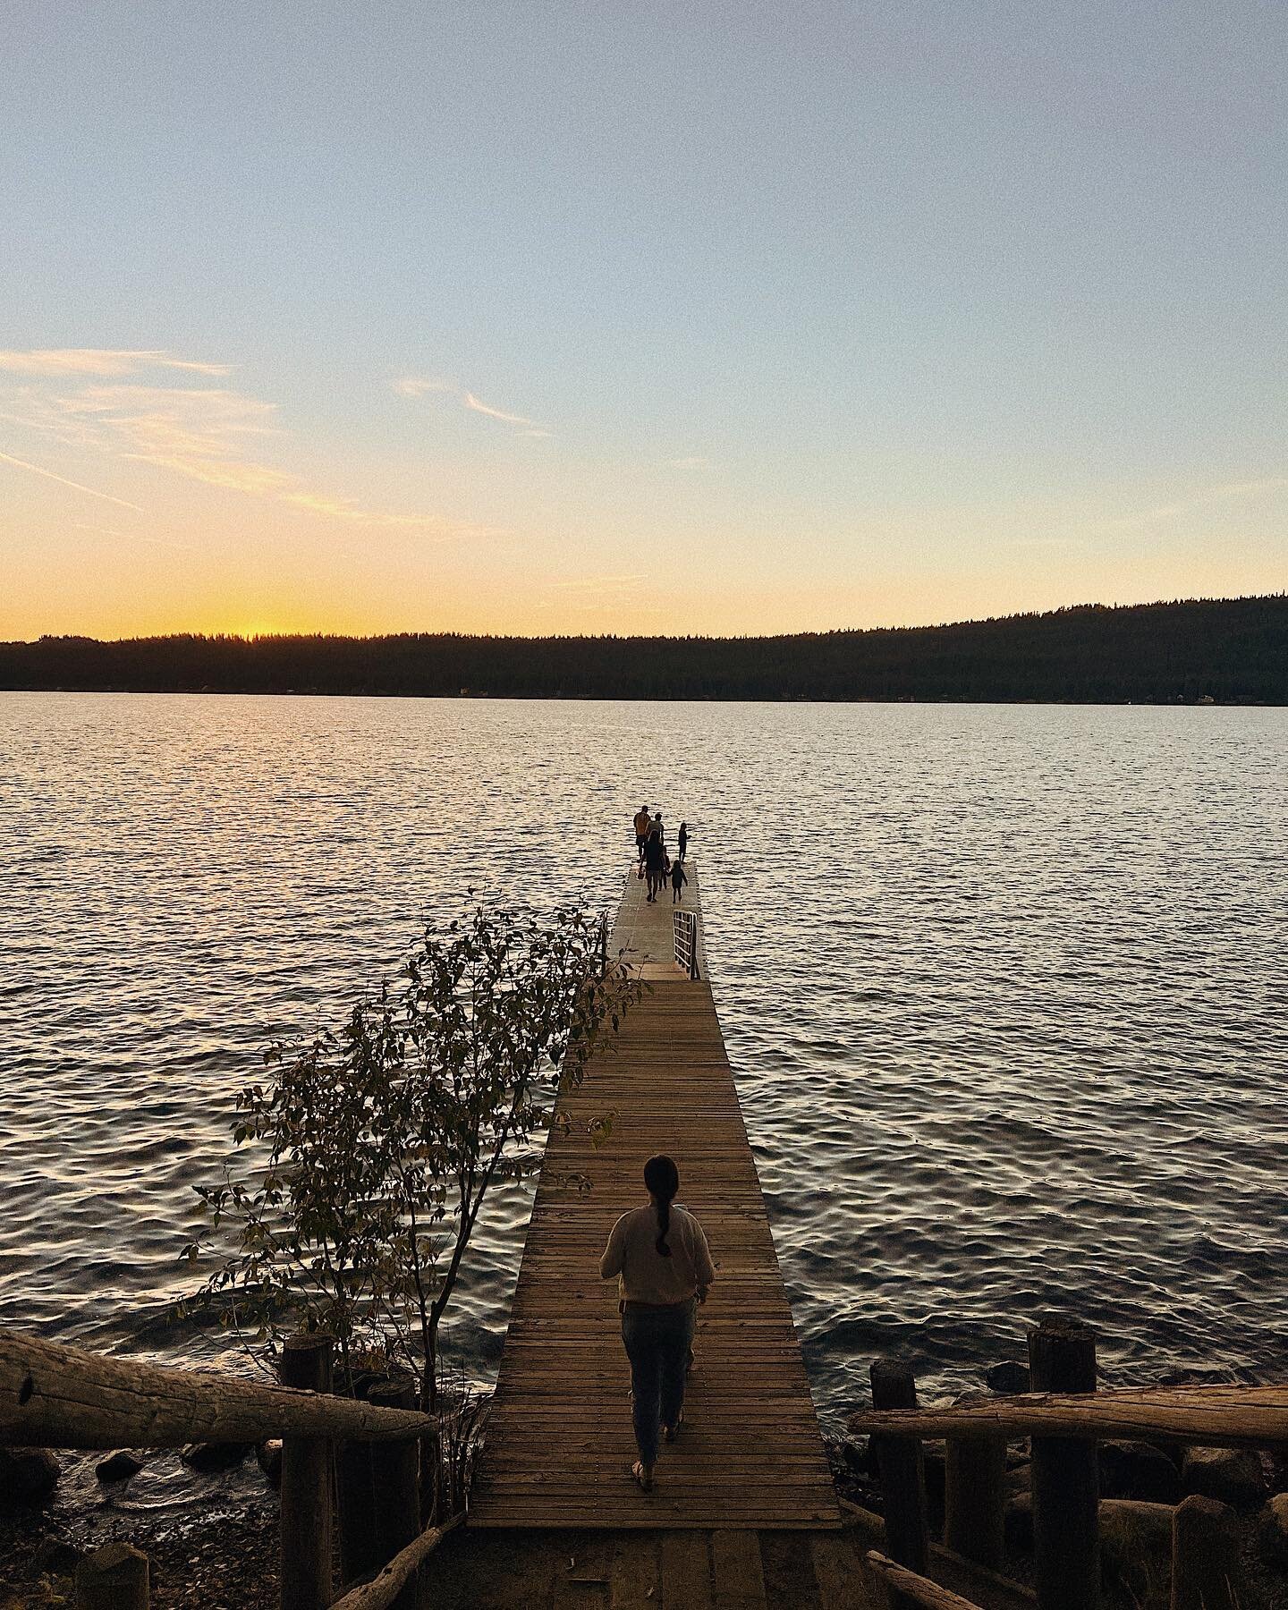
[[[42,638],[0,687],[1288,704],[1288,594],[791,638]]]

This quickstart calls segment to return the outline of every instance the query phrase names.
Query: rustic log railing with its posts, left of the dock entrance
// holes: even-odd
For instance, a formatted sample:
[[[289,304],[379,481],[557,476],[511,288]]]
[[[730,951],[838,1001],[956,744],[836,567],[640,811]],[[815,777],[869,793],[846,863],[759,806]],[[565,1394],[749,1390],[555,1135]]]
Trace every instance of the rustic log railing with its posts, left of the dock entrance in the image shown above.
[[[213,1370],[108,1359],[0,1328],[0,1447],[150,1449],[280,1436],[282,1610],[412,1610],[420,1565],[462,1518],[422,1530],[415,1455],[436,1420],[333,1396],[332,1351],[332,1338],[317,1331],[290,1336],[282,1354],[285,1385],[259,1386]],[[340,1599],[332,1538],[338,1523],[343,1544],[346,1496],[343,1481],[336,1491],[336,1443],[367,1444],[362,1486],[378,1497],[378,1525],[362,1526],[362,1575]],[[113,1550],[121,1552],[111,1544],[100,1554]],[[341,1546],[341,1563],[345,1555]],[[116,1555],[97,1560],[90,1555],[79,1567],[77,1605],[147,1610],[147,1570],[127,1571],[126,1586]],[[113,1573],[109,1600],[97,1570]]]

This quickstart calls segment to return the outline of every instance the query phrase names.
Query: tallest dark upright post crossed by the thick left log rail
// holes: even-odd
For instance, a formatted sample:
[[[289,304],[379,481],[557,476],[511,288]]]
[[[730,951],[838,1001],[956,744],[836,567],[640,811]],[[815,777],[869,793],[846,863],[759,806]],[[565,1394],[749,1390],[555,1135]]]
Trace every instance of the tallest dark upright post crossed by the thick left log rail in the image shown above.
[[[288,1336],[282,1385],[332,1389],[332,1338]],[[282,1438],[282,1610],[327,1610],[332,1587],[332,1443],[324,1436]]]

